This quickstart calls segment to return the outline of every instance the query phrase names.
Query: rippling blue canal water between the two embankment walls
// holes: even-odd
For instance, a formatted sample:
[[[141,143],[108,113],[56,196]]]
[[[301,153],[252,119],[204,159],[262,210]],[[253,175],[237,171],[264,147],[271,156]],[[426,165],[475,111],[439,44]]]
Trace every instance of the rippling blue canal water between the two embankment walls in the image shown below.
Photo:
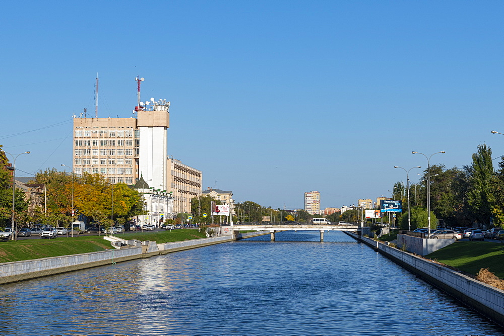
[[[0,334],[502,334],[342,232],[281,232],[3,285]]]

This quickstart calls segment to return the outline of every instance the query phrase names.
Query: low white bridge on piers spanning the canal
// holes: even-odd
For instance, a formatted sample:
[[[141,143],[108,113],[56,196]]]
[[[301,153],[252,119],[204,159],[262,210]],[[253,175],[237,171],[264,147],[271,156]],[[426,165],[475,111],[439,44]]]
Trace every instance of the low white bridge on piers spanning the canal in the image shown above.
[[[234,231],[270,231],[271,241],[275,241],[276,231],[319,231],[320,241],[324,241],[324,231],[360,231],[358,225],[320,225],[320,224],[240,224],[232,225]]]

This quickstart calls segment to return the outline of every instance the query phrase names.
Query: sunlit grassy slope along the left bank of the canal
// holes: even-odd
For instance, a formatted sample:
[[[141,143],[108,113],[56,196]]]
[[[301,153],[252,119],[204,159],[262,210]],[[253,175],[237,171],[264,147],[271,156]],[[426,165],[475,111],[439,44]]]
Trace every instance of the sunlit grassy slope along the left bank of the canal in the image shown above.
[[[154,240],[157,243],[205,238],[197,229],[161,232],[126,232],[116,236],[124,239]],[[76,255],[111,249],[110,241],[103,236],[58,236],[55,239],[23,239],[0,242],[0,263]]]

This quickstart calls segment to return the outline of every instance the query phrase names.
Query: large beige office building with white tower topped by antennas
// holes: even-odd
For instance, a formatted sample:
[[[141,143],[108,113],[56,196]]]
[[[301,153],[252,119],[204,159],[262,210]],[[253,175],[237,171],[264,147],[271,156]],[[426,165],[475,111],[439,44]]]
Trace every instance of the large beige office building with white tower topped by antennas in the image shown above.
[[[191,198],[201,195],[202,172],[168,158],[170,103],[151,103],[136,107],[136,118],[74,118],[74,172],[129,185],[143,176],[152,188],[172,192],[175,214],[189,212]]]

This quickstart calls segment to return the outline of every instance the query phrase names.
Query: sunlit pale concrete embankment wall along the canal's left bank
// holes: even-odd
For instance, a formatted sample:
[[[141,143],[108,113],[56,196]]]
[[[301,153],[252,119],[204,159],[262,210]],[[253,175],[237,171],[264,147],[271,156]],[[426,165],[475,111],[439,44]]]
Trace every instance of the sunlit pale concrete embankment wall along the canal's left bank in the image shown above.
[[[269,232],[240,233],[236,239],[248,238]],[[157,244],[144,241],[138,247],[122,247],[79,255],[42,258],[0,264],[0,284],[34,279],[48,275],[83,270],[87,268],[119,263],[128,260],[148,258],[184,249],[203,247],[234,240],[232,235]]]

